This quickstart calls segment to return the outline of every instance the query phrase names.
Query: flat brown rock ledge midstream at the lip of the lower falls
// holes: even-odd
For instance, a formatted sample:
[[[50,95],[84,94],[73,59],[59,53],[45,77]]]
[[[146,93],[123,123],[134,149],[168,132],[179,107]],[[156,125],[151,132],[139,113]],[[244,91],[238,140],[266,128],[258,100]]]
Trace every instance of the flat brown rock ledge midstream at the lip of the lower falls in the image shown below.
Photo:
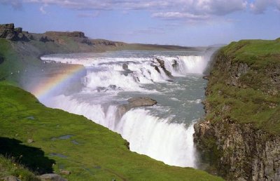
[[[130,98],[129,100],[127,100],[127,102],[128,104],[118,106],[118,112],[120,117],[123,116],[125,112],[128,112],[134,107],[153,106],[157,104],[157,101],[151,98]]]

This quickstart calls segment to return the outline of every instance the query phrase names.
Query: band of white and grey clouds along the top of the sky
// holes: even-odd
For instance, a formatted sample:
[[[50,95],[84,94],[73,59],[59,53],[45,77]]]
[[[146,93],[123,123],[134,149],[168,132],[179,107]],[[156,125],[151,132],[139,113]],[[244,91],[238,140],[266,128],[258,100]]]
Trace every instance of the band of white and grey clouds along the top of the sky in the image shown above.
[[[46,13],[44,4],[83,11],[78,16],[94,17],[85,11],[139,11],[151,13],[153,18],[167,20],[207,20],[230,13],[251,9],[263,13],[269,6],[280,10],[280,0],[0,0],[14,8],[22,4],[41,4],[40,11]]]

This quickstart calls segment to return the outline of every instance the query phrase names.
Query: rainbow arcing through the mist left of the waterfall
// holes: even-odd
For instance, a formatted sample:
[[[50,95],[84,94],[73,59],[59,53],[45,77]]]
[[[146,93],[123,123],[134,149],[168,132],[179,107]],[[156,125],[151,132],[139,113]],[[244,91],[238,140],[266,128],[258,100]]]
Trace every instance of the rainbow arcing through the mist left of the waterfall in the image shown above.
[[[83,67],[83,65],[69,65],[67,69],[59,72],[59,74],[54,74],[47,79],[43,79],[40,83],[37,83],[34,88],[31,88],[31,93],[33,93],[38,100],[42,100],[56,88],[59,88],[62,83],[80,74],[84,70],[85,67]]]

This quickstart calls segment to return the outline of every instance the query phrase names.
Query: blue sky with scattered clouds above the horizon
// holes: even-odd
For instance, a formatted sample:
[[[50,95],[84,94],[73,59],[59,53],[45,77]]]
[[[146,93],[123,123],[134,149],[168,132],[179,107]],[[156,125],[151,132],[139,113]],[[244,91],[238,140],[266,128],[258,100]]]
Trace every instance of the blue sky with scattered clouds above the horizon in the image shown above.
[[[210,46],[280,37],[280,0],[0,0],[0,24],[91,39]]]

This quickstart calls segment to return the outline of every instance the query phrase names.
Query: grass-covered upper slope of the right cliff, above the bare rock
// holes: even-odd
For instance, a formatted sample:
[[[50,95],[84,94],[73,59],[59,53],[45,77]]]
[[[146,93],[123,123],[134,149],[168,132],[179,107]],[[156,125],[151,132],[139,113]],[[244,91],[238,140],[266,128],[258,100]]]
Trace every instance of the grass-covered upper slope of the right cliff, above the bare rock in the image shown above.
[[[268,91],[279,87],[279,83],[272,84],[271,74],[280,74],[280,40],[233,42],[221,49],[218,58],[220,65],[211,72],[207,88],[207,102],[211,107],[207,119],[218,121],[229,117],[280,135],[280,95]],[[248,72],[239,77],[239,86],[227,83],[230,74],[222,59],[231,65],[249,65]]]

